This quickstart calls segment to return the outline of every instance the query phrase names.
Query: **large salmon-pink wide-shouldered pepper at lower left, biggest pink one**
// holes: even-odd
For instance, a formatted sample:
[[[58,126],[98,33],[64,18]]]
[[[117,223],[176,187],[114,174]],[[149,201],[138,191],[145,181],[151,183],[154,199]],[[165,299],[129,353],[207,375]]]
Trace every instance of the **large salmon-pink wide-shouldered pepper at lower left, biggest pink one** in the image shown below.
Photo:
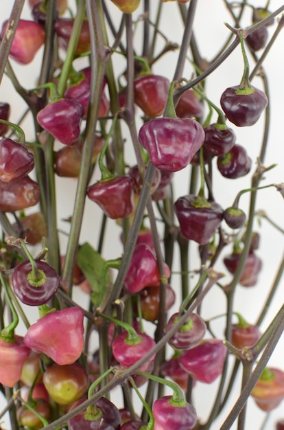
[[[84,348],[83,320],[84,312],[77,306],[47,313],[28,328],[25,346],[59,365],[74,363]]]

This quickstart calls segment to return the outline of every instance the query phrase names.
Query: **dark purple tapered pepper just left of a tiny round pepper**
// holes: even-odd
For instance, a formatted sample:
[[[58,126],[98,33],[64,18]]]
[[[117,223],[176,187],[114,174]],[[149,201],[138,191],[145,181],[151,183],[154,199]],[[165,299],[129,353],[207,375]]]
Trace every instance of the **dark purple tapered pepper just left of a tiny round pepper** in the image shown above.
[[[195,201],[193,194],[182,196],[174,203],[174,211],[182,235],[205,245],[220,226],[224,210],[214,201],[209,202],[210,207],[195,206]]]

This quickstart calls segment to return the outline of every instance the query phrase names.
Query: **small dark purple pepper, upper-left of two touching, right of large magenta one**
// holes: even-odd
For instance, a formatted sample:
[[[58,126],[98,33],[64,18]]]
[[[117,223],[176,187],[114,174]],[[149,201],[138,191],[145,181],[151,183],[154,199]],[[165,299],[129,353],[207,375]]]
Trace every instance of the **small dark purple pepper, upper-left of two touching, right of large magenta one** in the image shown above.
[[[219,157],[226,154],[235,145],[235,133],[232,128],[224,128],[224,124],[211,124],[204,127],[204,132],[204,148],[212,155]]]

